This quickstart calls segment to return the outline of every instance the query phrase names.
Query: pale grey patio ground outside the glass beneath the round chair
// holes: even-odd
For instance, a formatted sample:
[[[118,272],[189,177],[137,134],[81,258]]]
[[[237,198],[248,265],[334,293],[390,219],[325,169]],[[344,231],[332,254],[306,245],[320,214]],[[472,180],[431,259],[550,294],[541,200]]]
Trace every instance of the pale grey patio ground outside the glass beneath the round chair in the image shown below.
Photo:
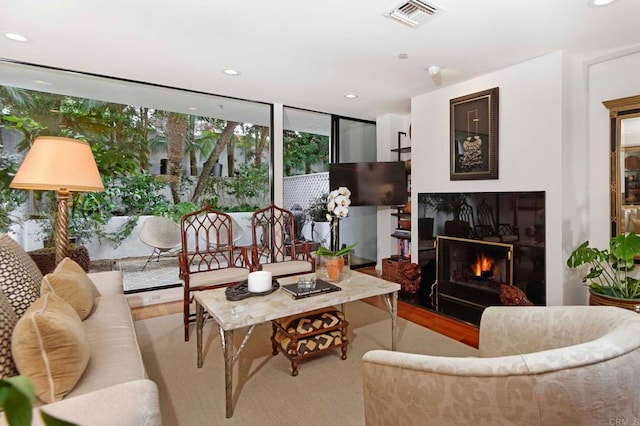
[[[124,294],[143,291],[179,287],[182,281],[178,276],[178,259],[176,257],[161,258],[144,266],[146,259],[121,260],[118,268],[122,270]]]

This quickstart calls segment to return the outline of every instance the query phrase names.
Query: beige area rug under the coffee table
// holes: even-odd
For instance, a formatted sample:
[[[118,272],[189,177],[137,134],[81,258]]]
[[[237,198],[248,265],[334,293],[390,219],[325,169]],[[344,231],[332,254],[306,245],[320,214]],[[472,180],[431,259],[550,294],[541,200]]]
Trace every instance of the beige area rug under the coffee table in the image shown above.
[[[303,362],[299,375],[282,355],[271,355],[270,324],[256,327],[234,366],[234,415],[225,418],[224,364],[214,323],[204,328],[204,366],[196,368],[195,332],[183,340],[180,314],[137,321],[150,378],[160,390],[165,425],[362,425],[360,360],[389,349],[389,314],[364,302],[346,306],[348,359],[339,351]],[[398,349],[430,355],[473,356],[474,348],[399,319]],[[194,326],[192,325],[192,330]],[[244,330],[235,334],[238,346]]]

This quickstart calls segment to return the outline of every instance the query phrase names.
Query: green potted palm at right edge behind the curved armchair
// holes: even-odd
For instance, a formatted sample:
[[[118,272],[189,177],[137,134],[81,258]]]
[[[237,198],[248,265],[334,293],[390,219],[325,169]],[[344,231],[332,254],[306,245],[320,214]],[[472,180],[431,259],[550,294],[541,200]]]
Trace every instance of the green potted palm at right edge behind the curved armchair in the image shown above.
[[[635,258],[640,255],[640,236],[620,234],[609,240],[609,248],[578,246],[567,259],[567,266],[588,265],[582,282],[589,287],[590,305],[619,306],[640,312],[640,280],[636,278]]]

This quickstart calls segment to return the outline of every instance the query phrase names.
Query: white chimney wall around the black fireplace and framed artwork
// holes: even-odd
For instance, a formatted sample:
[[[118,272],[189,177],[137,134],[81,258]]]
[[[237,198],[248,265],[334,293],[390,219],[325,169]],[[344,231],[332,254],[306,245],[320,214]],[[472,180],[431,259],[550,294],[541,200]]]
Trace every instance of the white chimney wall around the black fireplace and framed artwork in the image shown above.
[[[499,179],[451,181],[449,101],[492,87],[500,88]],[[557,52],[416,96],[411,104],[413,205],[419,192],[545,191],[550,305],[564,302],[563,94],[563,54]],[[412,216],[417,223],[417,213]],[[413,239],[417,241],[417,229]]]

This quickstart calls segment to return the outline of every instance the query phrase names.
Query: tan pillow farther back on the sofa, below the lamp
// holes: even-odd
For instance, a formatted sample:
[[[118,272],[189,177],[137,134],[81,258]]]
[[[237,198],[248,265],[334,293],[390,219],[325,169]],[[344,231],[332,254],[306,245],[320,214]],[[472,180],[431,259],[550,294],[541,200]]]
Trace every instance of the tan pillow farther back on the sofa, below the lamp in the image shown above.
[[[100,294],[82,267],[68,257],[42,278],[40,294],[48,293],[60,296],[82,320],[91,314],[95,298]]]

